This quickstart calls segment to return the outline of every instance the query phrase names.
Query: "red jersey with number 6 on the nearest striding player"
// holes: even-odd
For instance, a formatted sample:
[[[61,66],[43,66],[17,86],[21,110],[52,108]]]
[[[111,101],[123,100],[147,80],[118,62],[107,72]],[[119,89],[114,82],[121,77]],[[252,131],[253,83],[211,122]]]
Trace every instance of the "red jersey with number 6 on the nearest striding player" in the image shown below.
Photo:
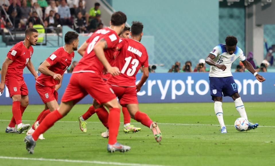
[[[83,55],[83,58],[78,62],[78,64],[73,69],[73,73],[79,72],[92,72],[101,76],[102,70],[104,69],[103,64],[95,55],[93,47],[97,41],[105,39],[107,42],[107,47],[104,49],[104,54],[106,59],[110,64],[114,62],[114,52],[116,51],[116,46],[118,44],[119,37],[115,31],[110,28],[103,28],[95,31],[92,36],[87,39],[87,48]]]

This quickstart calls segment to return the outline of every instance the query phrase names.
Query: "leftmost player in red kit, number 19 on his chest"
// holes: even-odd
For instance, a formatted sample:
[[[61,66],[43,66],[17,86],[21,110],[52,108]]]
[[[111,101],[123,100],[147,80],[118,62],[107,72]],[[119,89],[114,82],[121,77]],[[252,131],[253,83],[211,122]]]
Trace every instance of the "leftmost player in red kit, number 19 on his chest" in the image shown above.
[[[27,66],[34,78],[38,77],[31,61],[38,40],[38,31],[28,28],[25,31],[25,39],[15,44],[8,52],[1,70],[0,92],[3,93],[5,84],[12,98],[12,118],[6,128],[6,133],[22,133],[30,127],[30,124],[22,124],[22,115],[29,104],[28,88],[23,78],[23,69]],[[15,128],[17,125],[17,129]]]

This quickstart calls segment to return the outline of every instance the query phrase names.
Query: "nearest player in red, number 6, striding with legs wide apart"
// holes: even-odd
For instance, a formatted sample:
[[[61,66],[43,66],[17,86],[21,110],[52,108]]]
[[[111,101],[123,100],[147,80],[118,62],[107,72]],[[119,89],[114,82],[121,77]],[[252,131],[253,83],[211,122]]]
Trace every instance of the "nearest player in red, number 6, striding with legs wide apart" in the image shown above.
[[[66,116],[73,106],[87,94],[110,110],[108,118],[110,136],[107,150],[109,152],[130,150],[129,146],[117,143],[116,137],[120,124],[119,104],[113,90],[101,79],[103,69],[114,76],[120,74],[119,69],[110,64],[114,61],[113,54],[119,41],[118,34],[123,31],[125,23],[126,15],[120,11],[115,12],[112,14],[110,27],[95,31],[81,45],[79,52],[83,58],[73,70],[59,108],[48,114],[34,133],[24,139],[29,153],[34,152],[38,136],[52,127],[56,121]]]

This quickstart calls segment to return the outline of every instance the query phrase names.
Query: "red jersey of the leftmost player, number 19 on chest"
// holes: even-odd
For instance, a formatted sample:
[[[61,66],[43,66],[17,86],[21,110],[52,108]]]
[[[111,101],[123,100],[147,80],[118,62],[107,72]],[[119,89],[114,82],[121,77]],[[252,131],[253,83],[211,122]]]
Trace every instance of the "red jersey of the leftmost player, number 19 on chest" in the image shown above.
[[[7,54],[7,57],[13,62],[9,64],[6,76],[13,76],[23,80],[23,69],[27,66],[33,52],[32,46],[29,49],[26,48],[23,41],[15,44]]]

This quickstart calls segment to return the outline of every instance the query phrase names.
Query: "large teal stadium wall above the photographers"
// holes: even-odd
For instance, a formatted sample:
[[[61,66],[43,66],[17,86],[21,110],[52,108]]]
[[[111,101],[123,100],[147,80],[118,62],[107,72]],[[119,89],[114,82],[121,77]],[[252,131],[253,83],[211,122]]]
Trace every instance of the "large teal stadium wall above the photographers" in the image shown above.
[[[219,43],[219,1],[111,1],[127,22],[141,21],[144,34],[155,37],[153,63],[170,68],[175,61],[197,63]],[[207,7],[206,7],[207,6]],[[143,40],[143,39],[142,39]]]

